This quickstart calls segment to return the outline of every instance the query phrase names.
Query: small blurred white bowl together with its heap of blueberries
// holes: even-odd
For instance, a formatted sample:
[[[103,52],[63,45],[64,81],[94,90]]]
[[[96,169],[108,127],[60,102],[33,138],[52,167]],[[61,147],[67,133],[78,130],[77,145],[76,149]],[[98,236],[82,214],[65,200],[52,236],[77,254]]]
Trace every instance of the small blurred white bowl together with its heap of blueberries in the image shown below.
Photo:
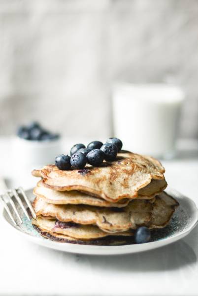
[[[54,162],[55,156],[62,151],[61,137],[46,130],[38,122],[32,122],[18,128],[11,150],[13,163],[17,167],[32,169],[35,165]]]

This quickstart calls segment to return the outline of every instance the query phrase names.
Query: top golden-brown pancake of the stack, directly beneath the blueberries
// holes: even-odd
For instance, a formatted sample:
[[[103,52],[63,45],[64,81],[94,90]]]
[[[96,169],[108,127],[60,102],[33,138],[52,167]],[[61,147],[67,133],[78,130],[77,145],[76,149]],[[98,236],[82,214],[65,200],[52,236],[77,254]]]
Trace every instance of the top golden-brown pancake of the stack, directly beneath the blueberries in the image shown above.
[[[99,167],[87,165],[82,170],[62,171],[55,165],[47,165],[34,170],[33,175],[42,177],[43,184],[49,188],[78,190],[115,203],[123,198],[137,198],[138,190],[152,179],[165,180],[164,172],[155,158],[121,151],[115,161],[103,162]]]

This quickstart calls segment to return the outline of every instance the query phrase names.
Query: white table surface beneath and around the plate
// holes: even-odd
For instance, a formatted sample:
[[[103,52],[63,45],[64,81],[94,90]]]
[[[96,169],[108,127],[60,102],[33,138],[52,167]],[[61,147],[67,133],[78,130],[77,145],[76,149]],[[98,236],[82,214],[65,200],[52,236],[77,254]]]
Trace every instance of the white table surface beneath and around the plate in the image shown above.
[[[9,177],[8,141],[1,140],[0,172]],[[198,143],[163,161],[167,183],[198,206]],[[185,150],[185,148],[187,148]],[[7,158],[8,157],[8,158]],[[14,181],[14,180],[12,180]],[[27,184],[23,179],[23,184]],[[16,181],[15,181],[16,182]],[[29,179],[29,184],[34,179]],[[169,246],[126,256],[72,255],[26,241],[0,221],[0,295],[198,295],[198,227]]]

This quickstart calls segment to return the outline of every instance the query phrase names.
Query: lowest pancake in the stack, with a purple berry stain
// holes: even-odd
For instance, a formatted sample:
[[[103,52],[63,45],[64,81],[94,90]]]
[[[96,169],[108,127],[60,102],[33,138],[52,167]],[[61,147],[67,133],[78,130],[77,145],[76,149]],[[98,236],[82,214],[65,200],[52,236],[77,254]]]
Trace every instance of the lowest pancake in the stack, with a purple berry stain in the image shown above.
[[[64,234],[76,239],[90,240],[98,239],[110,235],[107,232],[99,229],[95,225],[81,225],[69,222],[60,222],[57,220],[49,220],[44,217],[37,217],[37,220],[32,220],[33,225],[36,225],[42,231],[50,233]],[[132,236],[133,231],[117,232],[116,235]]]

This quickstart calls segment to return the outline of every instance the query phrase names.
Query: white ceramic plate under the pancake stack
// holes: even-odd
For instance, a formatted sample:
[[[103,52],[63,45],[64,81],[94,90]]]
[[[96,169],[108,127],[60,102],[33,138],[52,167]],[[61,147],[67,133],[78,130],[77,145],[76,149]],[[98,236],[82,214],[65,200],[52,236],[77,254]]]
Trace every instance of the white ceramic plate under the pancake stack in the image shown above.
[[[26,194],[33,201],[33,189],[27,190]],[[92,246],[77,245],[71,243],[54,242],[43,238],[32,226],[26,217],[23,218],[23,224],[14,226],[9,219],[6,211],[3,210],[3,220],[19,234],[23,235],[30,241],[45,246],[47,248],[60,250],[70,253],[87,254],[87,255],[120,255],[137,253],[156,249],[170,243],[173,243],[190,233],[198,223],[198,209],[195,203],[188,197],[183,196],[173,189],[166,190],[180,204],[175,211],[170,223],[163,229],[153,230],[151,241],[145,244],[131,244],[125,246]]]

